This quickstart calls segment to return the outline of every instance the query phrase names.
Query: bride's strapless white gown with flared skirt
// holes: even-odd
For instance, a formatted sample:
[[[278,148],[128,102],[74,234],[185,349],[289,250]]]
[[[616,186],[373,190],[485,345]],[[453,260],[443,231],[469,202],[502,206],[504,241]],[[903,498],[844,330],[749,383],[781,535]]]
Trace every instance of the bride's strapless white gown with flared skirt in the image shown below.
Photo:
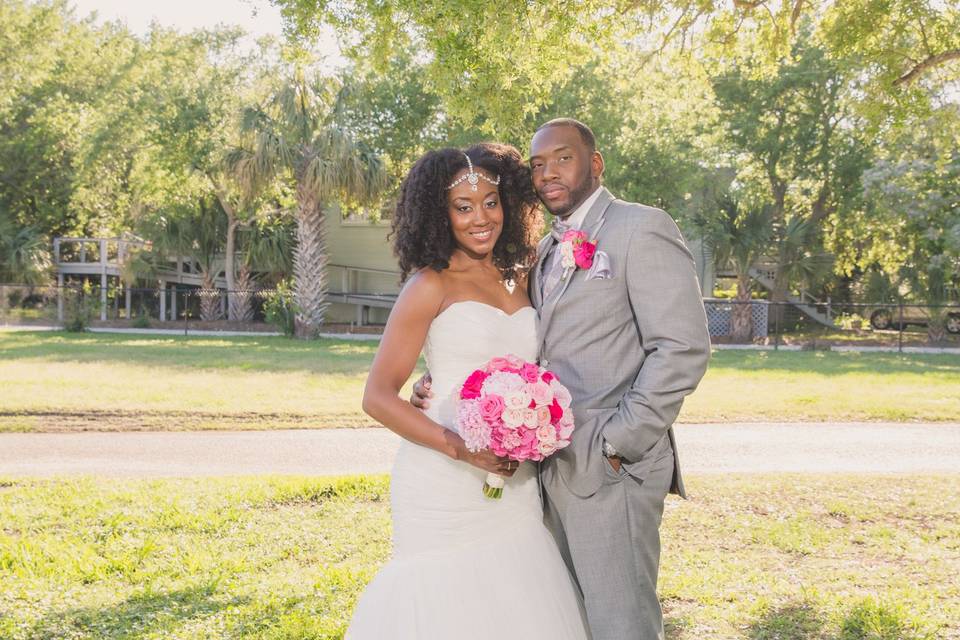
[[[490,358],[534,362],[537,313],[457,302],[437,316],[424,356],[433,376],[427,414],[454,428],[460,385]],[[537,468],[524,462],[500,500],[486,472],[408,441],[390,481],[393,559],[354,612],[347,640],[584,640],[575,587],[543,525]]]

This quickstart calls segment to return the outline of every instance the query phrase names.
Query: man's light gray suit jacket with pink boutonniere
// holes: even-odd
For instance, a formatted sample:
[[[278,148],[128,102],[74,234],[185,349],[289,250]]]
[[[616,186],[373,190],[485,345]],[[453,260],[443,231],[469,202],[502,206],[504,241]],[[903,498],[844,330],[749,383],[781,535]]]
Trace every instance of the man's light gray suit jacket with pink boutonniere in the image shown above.
[[[540,312],[540,362],[570,390],[576,421],[570,446],[543,463],[542,480],[548,492],[565,487],[580,497],[603,483],[603,439],[637,478],[668,443],[676,457],[673,422],[710,357],[693,256],[676,223],[601,190],[581,230],[606,254],[610,277],[576,269],[541,300],[548,235],[529,279]],[[686,495],[679,460],[671,492]]]

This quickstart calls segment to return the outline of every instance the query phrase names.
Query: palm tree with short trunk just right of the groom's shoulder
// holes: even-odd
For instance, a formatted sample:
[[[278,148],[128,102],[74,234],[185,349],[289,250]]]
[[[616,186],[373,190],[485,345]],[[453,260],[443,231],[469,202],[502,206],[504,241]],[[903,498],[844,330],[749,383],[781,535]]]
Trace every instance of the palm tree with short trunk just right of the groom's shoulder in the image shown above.
[[[753,335],[751,314],[753,279],[750,268],[770,250],[773,210],[770,206],[741,209],[729,196],[718,202],[719,215],[709,234],[718,264],[731,264],[737,276],[737,303],[733,306],[730,335],[747,342]]]

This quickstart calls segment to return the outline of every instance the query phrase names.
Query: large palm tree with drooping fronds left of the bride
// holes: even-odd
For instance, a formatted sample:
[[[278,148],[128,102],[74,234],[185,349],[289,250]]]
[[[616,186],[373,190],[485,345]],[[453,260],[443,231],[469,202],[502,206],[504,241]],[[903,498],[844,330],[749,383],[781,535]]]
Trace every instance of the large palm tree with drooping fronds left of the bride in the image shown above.
[[[327,307],[326,204],[373,202],[387,183],[380,158],[341,124],[341,99],[341,87],[334,80],[308,80],[296,71],[263,104],[244,110],[245,144],[227,158],[248,195],[277,178],[294,183],[293,275],[299,337],[316,335]]]

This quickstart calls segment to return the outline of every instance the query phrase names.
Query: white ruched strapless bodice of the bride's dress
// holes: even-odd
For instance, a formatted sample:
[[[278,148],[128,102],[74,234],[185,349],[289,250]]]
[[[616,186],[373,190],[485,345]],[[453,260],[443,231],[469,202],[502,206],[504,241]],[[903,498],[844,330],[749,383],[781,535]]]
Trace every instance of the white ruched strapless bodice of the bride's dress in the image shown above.
[[[509,314],[483,302],[454,302],[433,320],[423,355],[433,378],[426,414],[454,429],[460,387],[491,358],[513,354],[537,359],[537,312],[523,307]]]

